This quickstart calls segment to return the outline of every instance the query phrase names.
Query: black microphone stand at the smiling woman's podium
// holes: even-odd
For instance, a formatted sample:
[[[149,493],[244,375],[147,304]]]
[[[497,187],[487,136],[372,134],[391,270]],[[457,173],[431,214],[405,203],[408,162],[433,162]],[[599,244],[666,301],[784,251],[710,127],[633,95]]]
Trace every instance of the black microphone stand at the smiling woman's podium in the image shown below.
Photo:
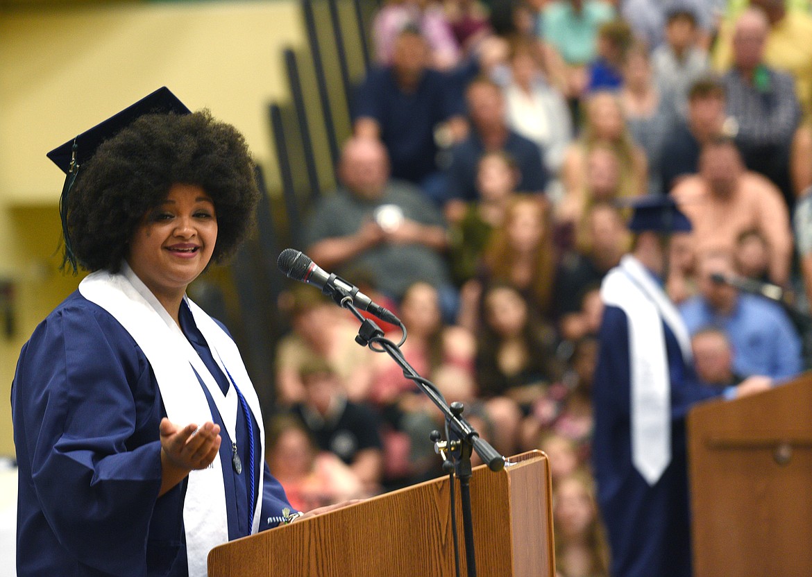
[[[346,308],[352,312],[352,315],[361,322],[361,327],[358,329],[356,335],[356,342],[361,347],[369,347],[375,352],[386,352],[395,363],[403,369],[404,377],[414,381],[417,387],[431,399],[446,419],[446,428],[448,431],[448,440],[443,442],[435,442],[435,447],[440,450],[449,450],[449,453],[459,452],[456,455],[455,472],[456,476],[460,479],[460,502],[462,503],[462,521],[463,530],[465,535],[465,561],[468,566],[469,577],[476,577],[477,575],[477,561],[474,556],[473,545],[473,519],[471,515],[471,492],[470,480],[472,475],[471,467],[471,454],[476,451],[482,463],[490,468],[491,471],[501,471],[504,468],[505,459],[502,455],[490,446],[488,441],[482,439],[479,433],[464,419],[462,413],[464,411],[463,403],[451,403],[449,407],[443,394],[440,394],[434,384],[421,377],[417,371],[408,364],[404,358],[400,348],[387,338],[383,338],[382,329],[365,316],[358,312],[355,305],[352,304],[352,296],[346,291],[335,287],[333,291],[328,292],[333,300],[340,307]],[[380,350],[373,347],[378,345]],[[453,438],[451,438],[453,437]],[[432,439],[436,441],[436,439]]]

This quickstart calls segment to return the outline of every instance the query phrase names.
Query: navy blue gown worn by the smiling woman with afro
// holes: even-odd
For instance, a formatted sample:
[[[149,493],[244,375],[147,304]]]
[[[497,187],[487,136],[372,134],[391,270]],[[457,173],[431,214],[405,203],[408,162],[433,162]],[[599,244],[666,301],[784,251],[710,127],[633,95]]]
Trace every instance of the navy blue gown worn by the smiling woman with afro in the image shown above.
[[[181,328],[223,389],[184,304]],[[185,361],[184,361],[185,362]],[[231,439],[220,425],[228,536],[249,534],[248,426],[237,411],[242,475],[231,467]],[[17,571],[28,575],[188,575],[184,533],[186,481],[162,497],[158,425],[166,416],[144,353],[122,325],[78,291],[42,321],[24,345],[11,388],[19,463]],[[253,486],[264,475],[260,530],[289,507],[259,450]],[[185,424],[185,423],[184,423]],[[184,425],[183,424],[183,425]],[[254,497],[256,498],[256,496]]]

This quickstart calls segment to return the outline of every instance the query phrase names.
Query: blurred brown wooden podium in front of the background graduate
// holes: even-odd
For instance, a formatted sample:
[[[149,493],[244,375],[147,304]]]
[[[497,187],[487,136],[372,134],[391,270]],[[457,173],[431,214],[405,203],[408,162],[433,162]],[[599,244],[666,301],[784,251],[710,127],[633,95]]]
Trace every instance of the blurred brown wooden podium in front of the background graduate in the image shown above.
[[[694,577],[812,575],[812,373],[689,414]]]

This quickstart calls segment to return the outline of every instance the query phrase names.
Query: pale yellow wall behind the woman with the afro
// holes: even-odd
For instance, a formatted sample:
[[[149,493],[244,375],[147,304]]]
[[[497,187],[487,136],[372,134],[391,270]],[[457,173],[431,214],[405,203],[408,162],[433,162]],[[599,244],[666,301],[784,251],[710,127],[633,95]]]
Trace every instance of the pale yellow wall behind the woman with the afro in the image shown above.
[[[304,44],[298,2],[195,2],[0,12],[0,279],[16,333],[0,334],[0,455],[19,348],[78,278],[58,272],[63,174],[45,153],[166,85],[246,136],[277,183],[267,107],[287,100],[282,51]]]

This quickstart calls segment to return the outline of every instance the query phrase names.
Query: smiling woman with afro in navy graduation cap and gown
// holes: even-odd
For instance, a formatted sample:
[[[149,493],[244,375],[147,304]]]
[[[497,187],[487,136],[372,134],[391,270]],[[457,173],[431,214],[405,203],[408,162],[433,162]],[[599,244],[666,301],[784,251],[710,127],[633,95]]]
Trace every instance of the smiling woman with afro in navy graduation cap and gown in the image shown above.
[[[92,273],[19,356],[18,575],[205,575],[290,519],[240,354],[185,296],[252,222],[248,148],[162,88],[49,156],[66,263]]]

